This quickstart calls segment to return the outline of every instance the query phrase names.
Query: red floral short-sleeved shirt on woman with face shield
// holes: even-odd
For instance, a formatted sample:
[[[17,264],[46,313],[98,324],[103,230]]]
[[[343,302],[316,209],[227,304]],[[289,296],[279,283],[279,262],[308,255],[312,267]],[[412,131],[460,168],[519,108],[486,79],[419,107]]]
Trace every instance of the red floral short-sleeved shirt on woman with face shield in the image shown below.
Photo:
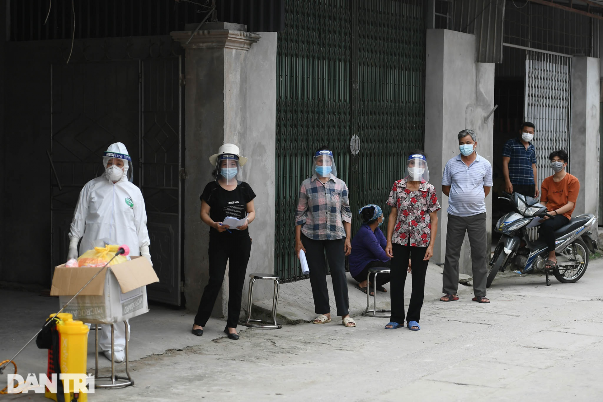
[[[387,204],[398,209],[391,242],[412,247],[427,247],[431,240],[429,213],[440,210],[434,186],[423,181],[418,190],[411,191],[406,188],[406,179],[403,178],[394,183]]]

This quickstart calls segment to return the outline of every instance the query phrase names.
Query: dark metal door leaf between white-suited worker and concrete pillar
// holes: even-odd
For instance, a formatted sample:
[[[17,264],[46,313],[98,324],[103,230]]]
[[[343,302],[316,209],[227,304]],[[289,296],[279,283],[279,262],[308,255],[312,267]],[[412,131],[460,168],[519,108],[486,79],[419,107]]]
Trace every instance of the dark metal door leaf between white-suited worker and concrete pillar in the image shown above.
[[[142,63],[142,193],[147,206],[151,259],[159,283],[150,298],[180,306],[182,255],[182,92],[181,57]]]

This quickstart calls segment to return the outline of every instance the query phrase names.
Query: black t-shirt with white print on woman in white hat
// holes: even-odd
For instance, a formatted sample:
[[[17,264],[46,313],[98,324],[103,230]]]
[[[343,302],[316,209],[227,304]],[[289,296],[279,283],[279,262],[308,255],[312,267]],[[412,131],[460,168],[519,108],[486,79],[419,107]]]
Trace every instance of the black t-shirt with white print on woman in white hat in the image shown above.
[[[239,181],[236,189],[231,191],[224,190],[216,181],[210,181],[199,198],[209,205],[209,217],[212,218],[212,221],[223,222],[227,216],[236,219],[245,218],[247,203],[256,198],[256,194],[244,181]],[[249,236],[248,229],[230,228],[229,230],[232,233],[228,231],[219,233],[214,228],[209,228],[209,234],[210,236]]]

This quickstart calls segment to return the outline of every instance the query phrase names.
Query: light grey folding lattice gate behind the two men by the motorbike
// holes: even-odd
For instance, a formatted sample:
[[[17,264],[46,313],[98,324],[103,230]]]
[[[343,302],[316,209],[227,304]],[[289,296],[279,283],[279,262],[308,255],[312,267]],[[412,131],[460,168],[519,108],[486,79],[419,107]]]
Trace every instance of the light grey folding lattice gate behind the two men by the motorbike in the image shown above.
[[[525,121],[534,123],[538,186],[552,174],[549,155],[570,147],[572,57],[526,50]],[[569,171],[570,163],[567,165]],[[537,228],[530,232],[537,237]]]

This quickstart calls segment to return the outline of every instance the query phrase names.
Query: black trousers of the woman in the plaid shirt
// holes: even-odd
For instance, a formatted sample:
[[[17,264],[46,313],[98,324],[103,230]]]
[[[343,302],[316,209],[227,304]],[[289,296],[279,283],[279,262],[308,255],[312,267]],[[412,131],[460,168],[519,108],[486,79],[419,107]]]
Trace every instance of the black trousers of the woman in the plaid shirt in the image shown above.
[[[301,234],[301,243],[306,249],[306,260],[308,260],[308,267],[310,268],[310,286],[312,286],[312,298],[314,298],[314,312],[317,314],[331,312],[325,254],[331,270],[337,315],[349,314],[345,242],[346,239],[312,240]]]

